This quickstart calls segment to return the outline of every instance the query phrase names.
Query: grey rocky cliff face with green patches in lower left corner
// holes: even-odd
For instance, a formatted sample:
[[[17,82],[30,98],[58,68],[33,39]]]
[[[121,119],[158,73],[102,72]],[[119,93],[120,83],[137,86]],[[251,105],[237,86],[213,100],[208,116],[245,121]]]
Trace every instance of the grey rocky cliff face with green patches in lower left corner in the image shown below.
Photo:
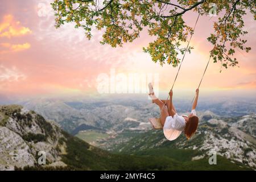
[[[22,106],[0,106],[0,170],[35,166],[39,151],[46,152],[48,165],[65,166],[60,157],[65,153],[60,131],[55,123]]]

